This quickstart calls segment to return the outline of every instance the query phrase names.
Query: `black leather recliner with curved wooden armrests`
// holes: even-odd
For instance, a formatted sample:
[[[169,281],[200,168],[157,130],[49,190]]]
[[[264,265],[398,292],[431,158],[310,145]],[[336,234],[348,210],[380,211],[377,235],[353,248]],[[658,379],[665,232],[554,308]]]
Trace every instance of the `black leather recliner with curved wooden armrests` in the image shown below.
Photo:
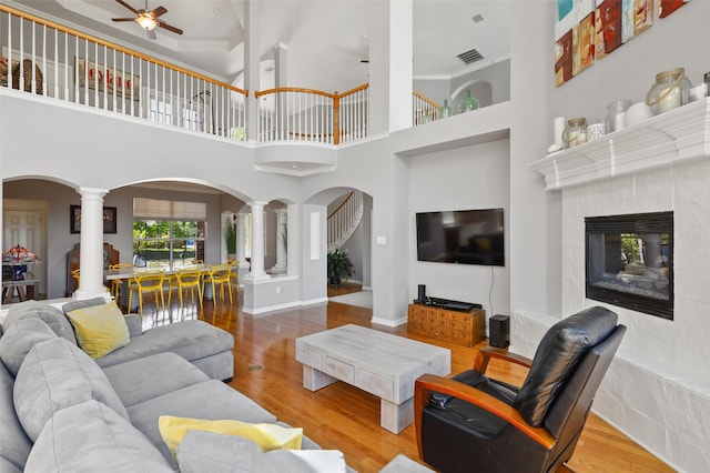
[[[552,325],[530,360],[479,351],[473,370],[415,384],[419,456],[443,473],[554,472],[568,461],[626,326],[600,306]],[[490,359],[529,368],[520,388],[485,375]]]

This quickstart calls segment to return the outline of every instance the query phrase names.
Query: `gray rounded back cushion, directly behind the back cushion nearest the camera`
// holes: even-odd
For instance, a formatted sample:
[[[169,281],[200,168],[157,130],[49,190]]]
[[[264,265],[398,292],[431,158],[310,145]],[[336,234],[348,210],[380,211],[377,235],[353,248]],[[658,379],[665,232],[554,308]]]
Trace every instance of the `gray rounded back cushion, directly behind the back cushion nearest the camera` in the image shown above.
[[[103,371],[79,346],[60,338],[36,344],[14,380],[14,409],[32,441],[55,411],[92,399],[129,419]]]

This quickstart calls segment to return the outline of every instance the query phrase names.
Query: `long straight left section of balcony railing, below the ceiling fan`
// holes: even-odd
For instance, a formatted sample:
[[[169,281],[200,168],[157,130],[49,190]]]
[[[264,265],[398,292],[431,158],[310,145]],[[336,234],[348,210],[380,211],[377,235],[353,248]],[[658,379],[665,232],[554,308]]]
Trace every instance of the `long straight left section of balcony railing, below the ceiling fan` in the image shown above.
[[[0,85],[244,138],[247,92],[0,4]]]

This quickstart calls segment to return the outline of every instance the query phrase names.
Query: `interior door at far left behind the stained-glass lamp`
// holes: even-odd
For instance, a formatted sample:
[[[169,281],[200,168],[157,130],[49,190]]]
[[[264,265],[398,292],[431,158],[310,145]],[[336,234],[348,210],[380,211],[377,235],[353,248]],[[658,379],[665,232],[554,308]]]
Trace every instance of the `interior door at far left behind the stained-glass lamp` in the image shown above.
[[[40,259],[28,268],[40,280],[40,294],[47,294],[45,270],[45,209],[42,204],[22,204],[3,201],[2,212],[2,252],[12,246],[24,246]],[[36,294],[36,298],[39,294]]]

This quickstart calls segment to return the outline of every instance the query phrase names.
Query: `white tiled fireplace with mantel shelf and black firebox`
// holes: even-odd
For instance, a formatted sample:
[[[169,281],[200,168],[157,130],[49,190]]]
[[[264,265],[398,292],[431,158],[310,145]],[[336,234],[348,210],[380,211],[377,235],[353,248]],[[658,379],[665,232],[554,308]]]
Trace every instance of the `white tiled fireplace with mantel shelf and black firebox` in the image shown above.
[[[548,190],[562,192],[562,314],[601,304],[629,328],[595,411],[676,469],[707,471],[710,99],[550,154],[532,167],[545,175]],[[585,219],[631,214],[665,214],[671,225],[622,228],[608,232],[608,244],[597,236],[590,243]],[[617,300],[602,302],[589,293],[589,244],[604,254],[594,263],[596,284],[608,283]],[[643,246],[643,254],[628,254]],[[648,299],[670,305],[660,316],[649,316],[636,302],[618,300],[630,292],[652,294]],[[526,331],[542,332],[541,325],[550,322],[514,314],[511,344],[525,345]]]

